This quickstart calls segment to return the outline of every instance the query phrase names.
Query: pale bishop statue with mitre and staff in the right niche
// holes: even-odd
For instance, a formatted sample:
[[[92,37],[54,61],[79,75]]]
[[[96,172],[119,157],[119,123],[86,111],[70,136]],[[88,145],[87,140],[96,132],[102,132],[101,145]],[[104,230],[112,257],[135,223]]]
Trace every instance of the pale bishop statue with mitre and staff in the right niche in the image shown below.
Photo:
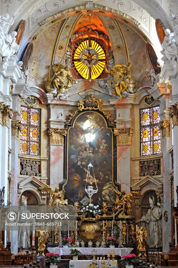
[[[151,199],[149,196],[149,203],[150,203],[151,209],[149,209],[147,214],[143,215],[141,219],[136,220],[136,223],[145,222],[146,228],[147,228],[147,240],[146,240],[146,242],[150,248],[158,248],[159,240],[160,240],[160,246],[162,244],[161,220],[160,220],[160,218],[161,218],[161,205],[160,205],[160,203],[157,203],[157,205],[159,206],[159,213],[158,213],[158,207],[156,207],[154,205],[154,197],[153,197],[153,199]],[[158,221],[158,219],[159,219],[159,221]],[[160,234],[159,234],[159,231],[160,231]]]

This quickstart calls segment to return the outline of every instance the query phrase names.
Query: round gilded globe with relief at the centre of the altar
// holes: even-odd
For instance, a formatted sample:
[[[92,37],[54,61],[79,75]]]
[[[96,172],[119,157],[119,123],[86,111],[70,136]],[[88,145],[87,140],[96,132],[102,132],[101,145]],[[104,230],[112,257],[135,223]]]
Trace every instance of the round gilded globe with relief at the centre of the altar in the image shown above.
[[[101,226],[97,221],[83,221],[79,227],[79,235],[85,242],[95,242],[101,236]]]

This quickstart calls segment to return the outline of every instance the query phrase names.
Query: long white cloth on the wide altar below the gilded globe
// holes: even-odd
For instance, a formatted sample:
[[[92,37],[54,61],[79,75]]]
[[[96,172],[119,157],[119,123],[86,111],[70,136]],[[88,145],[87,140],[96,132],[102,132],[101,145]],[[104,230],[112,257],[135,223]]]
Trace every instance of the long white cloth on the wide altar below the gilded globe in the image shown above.
[[[96,251],[95,255],[107,255],[107,251],[110,250],[110,254],[112,255],[112,251],[115,251],[115,256],[119,255],[124,256],[131,253],[133,248],[79,248],[81,250],[82,255],[94,255],[93,250]],[[47,248],[49,252],[52,252],[54,254],[58,253],[61,255],[70,255],[70,248]]]

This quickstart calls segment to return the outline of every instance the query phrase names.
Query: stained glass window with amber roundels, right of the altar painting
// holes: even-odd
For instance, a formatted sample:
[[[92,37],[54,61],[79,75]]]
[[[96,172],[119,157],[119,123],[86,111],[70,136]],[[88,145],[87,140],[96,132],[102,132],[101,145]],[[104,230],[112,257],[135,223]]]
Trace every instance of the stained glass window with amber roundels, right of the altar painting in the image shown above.
[[[140,155],[160,154],[160,107],[140,109]]]

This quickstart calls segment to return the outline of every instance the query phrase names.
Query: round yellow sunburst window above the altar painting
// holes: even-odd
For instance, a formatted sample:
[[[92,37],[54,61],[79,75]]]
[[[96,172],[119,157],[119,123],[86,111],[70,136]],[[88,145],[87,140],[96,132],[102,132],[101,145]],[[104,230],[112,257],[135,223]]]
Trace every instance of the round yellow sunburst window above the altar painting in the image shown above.
[[[100,44],[88,39],[78,45],[73,61],[77,72],[84,79],[96,79],[104,70],[106,55]]]

